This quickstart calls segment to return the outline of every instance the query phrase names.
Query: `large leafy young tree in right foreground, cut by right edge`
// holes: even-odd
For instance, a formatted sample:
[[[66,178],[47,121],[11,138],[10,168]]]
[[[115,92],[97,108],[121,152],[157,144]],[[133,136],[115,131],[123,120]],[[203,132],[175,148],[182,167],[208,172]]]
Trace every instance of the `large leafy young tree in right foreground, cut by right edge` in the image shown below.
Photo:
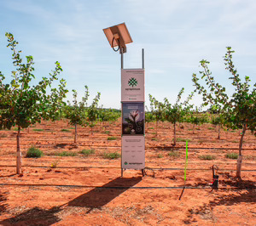
[[[224,55],[225,69],[230,71],[231,84],[234,92],[229,96],[225,88],[214,81],[212,72],[208,69],[209,61],[202,59],[201,80],[206,82],[206,86],[201,85],[200,78],[193,74],[192,81],[195,83],[195,90],[202,94],[204,105],[214,105],[224,116],[224,125],[232,129],[241,129],[239,142],[239,156],[237,159],[236,177],[241,178],[242,143],[247,130],[251,130],[256,136],[256,83],[250,88],[250,78],[245,76],[244,82],[241,81],[233,63],[232,48],[227,47]]]

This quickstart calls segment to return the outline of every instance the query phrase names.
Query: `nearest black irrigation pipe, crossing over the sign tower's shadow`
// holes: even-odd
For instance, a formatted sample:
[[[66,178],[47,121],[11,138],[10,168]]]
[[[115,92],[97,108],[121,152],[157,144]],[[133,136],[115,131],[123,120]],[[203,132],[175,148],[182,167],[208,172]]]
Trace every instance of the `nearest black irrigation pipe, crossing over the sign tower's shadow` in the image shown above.
[[[172,186],[172,187],[130,187],[130,186],[93,186],[93,185],[66,185],[66,184],[0,184],[0,186],[15,186],[15,187],[63,187],[77,189],[212,189],[212,186]],[[246,187],[218,187],[218,189],[256,189],[253,186]]]

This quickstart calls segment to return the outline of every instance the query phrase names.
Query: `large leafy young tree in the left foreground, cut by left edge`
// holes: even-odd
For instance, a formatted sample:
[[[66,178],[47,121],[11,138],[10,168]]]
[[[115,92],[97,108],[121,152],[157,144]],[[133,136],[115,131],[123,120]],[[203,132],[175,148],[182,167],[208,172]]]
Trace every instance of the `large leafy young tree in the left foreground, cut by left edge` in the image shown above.
[[[60,116],[61,108],[65,103],[66,82],[61,79],[58,88],[53,82],[58,80],[62,71],[59,62],[55,62],[55,70],[49,77],[43,77],[38,85],[32,85],[34,61],[32,56],[26,56],[26,63],[17,50],[18,42],[11,33],[6,33],[7,47],[12,51],[15,71],[11,71],[11,81],[5,82],[5,76],[0,72],[0,129],[17,127],[17,157],[16,173],[21,174],[20,129],[29,127],[42,119],[55,120]]]

